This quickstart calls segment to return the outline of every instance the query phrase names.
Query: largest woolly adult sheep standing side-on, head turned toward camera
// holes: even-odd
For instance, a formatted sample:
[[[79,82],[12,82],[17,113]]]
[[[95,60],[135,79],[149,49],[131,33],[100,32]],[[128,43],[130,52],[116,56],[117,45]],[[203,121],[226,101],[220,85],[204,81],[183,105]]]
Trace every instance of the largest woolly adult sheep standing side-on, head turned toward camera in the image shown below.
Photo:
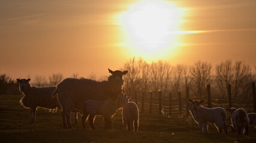
[[[122,92],[124,81],[122,76],[128,71],[112,71],[108,80],[97,82],[91,79],[64,79],[57,85],[53,92],[53,98],[58,94],[58,100],[62,107],[62,121],[64,129],[73,129],[70,120],[70,113],[73,108],[84,110],[86,100],[106,101],[109,98],[116,98]]]

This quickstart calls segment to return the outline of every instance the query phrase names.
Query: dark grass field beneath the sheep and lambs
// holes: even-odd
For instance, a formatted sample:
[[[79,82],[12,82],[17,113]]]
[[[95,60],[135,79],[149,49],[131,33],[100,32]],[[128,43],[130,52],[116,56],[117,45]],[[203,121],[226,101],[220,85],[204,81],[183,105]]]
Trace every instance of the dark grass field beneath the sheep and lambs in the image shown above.
[[[39,108],[37,122],[29,124],[29,109],[19,104],[21,95],[0,95],[0,142],[256,142],[256,129],[249,136],[217,133],[209,125],[209,134],[198,133],[198,125],[185,116],[160,116],[140,113],[138,132],[122,130],[121,111],[113,117],[112,130],[103,129],[103,119],[95,120],[96,130],[83,130],[81,118],[74,130],[62,129],[61,111],[50,113]],[[73,119],[73,118],[72,118]],[[74,119],[72,120],[74,123]]]

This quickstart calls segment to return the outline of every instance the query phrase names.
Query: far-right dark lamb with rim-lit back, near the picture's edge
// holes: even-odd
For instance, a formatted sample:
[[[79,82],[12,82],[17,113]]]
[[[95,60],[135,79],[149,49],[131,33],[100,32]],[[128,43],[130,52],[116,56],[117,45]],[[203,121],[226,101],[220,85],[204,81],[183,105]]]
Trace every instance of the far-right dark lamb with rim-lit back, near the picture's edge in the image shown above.
[[[226,108],[230,113],[233,131],[236,135],[249,134],[249,118],[246,111],[243,108]],[[232,129],[232,128],[231,128]]]

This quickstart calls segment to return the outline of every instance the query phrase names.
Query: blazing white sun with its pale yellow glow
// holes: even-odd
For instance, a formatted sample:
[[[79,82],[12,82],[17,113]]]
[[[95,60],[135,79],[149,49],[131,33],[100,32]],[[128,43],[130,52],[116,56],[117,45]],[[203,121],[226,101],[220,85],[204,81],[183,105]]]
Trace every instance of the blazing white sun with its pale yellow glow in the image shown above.
[[[170,56],[178,44],[177,31],[185,10],[167,1],[141,1],[118,15],[124,42],[133,56],[150,60]]]

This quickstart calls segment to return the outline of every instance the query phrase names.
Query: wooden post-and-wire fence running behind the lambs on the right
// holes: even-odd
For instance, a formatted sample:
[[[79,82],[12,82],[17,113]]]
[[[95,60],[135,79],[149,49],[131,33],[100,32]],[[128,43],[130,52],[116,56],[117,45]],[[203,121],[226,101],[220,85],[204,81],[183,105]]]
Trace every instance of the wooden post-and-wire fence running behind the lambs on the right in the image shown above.
[[[148,94],[146,94],[148,93]],[[129,96],[131,91],[129,90]],[[186,86],[186,96],[185,98],[181,98],[181,92],[178,92],[178,96],[176,98],[172,98],[172,93],[169,93],[169,98],[163,98],[162,92],[159,91],[150,91],[150,92],[142,92],[142,95],[138,94],[137,91],[134,91],[135,102],[138,105],[139,110],[142,113],[157,113],[158,114],[168,114],[171,116],[172,114],[186,114],[188,116],[189,112],[185,109],[186,101],[189,99],[189,87]],[[147,95],[147,96],[146,96]],[[252,98],[253,100],[243,100],[240,102],[237,100],[232,104],[231,98],[231,85],[228,85],[228,100],[225,99],[212,99],[210,94],[210,85],[207,85],[207,97],[194,97],[195,100],[206,100],[207,99],[207,107],[229,107],[232,105],[234,107],[243,107],[248,111],[256,112],[256,95],[255,95],[255,82],[252,82]],[[245,104],[246,102],[246,104]],[[176,104],[175,104],[176,103]],[[253,107],[252,107],[253,106]],[[185,110],[184,110],[185,109]]]

